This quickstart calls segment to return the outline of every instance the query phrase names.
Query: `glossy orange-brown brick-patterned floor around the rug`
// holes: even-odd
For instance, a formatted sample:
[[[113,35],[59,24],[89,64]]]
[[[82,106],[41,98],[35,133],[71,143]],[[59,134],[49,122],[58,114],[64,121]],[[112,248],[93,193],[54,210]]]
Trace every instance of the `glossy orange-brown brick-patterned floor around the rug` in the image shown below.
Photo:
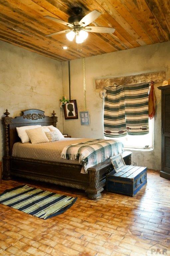
[[[20,184],[78,200],[47,220],[0,204],[0,255],[170,255],[170,181],[158,172],[148,171],[147,185],[134,197],[103,191],[95,201],[80,190],[28,180],[2,181],[0,193]]]

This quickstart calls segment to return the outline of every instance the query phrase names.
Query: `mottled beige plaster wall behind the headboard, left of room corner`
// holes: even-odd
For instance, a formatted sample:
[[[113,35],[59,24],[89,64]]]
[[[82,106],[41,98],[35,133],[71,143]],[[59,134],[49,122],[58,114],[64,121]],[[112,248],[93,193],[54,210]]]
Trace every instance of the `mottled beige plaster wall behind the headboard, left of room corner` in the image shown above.
[[[63,131],[59,99],[62,92],[61,63],[0,41],[0,117],[6,108],[11,117],[35,108],[51,116],[57,113]],[[0,127],[0,160],[3,156],[3,127]]]

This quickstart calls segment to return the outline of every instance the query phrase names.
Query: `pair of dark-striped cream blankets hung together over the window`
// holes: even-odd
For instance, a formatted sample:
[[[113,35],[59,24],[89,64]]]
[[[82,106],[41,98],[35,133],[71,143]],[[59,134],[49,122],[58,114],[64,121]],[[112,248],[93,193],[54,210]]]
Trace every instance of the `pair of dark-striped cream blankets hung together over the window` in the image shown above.
[[[121,137],[149,133],[149,82],[105,87],[104,135]]]

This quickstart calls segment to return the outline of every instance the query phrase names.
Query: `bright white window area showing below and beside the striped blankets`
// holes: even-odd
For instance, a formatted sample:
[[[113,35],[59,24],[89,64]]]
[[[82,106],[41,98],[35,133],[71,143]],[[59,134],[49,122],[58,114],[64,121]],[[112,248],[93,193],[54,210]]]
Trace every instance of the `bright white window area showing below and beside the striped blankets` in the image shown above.
[[[154,119],[149,119],[149,133],[145,135],[126,135],[124,137],[113,138],[123,142],[124,148],[132,149],[152,149],[153,148],[153,127]],[[105,137],[106,139],[110,139]]]

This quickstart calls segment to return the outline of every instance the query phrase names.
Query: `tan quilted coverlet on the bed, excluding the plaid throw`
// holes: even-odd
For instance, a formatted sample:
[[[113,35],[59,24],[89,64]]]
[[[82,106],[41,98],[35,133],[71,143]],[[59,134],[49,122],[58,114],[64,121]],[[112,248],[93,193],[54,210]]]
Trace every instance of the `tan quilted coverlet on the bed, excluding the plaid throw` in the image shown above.
[[[85,142],[89,140],[92,139],[64,138],[59,141],[39,144],[31,144],[30,142],[16,142],[12,149],[12,156],[68,164],[80,164],[79,161],[76,160],[67,160],[61,158],[62,150],[64,147],[70,144]]]

